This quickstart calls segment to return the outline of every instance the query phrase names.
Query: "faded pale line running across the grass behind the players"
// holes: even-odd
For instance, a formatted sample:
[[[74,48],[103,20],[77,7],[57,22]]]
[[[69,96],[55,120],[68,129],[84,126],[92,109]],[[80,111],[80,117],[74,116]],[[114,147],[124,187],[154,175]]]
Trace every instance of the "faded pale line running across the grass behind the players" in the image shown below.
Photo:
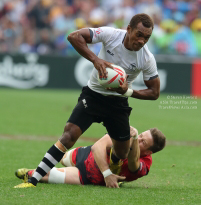
[[[23,136],[23,135],[0,135],[0,139],[5,140],[28,140],[28,141],[57,141],[59,137],[56,136]],[[96,142],[98,138],[90,138],[81,136],[78,142],[91,142],[92,144]],[[201,141],[175,141],[167,140],[167,145],[171,146],[191,146],[191,147],[201,147]]]

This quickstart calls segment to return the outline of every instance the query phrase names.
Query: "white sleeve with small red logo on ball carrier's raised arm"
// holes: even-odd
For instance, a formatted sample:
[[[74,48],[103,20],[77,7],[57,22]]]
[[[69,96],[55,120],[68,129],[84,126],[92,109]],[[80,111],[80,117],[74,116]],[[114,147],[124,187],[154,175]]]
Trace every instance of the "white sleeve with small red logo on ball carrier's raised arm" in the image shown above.
[[[102,42],[106,44],[110,41],[115,29],[110,27],[89,28],[93,32],[92,43]]]

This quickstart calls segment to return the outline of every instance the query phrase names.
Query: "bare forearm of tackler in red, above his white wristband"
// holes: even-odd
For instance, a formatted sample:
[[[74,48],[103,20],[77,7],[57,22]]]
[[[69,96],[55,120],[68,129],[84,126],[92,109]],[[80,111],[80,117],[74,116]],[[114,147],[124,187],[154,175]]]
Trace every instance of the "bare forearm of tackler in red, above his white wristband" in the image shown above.
[[[91,147],[91,151],[94,155],[94,160],[96,164],[98,165],[100,171],[104,172],[105,170],[109,169],[109,165],[107,163],[106,147],[96,146],[96,144],[94,144]]]

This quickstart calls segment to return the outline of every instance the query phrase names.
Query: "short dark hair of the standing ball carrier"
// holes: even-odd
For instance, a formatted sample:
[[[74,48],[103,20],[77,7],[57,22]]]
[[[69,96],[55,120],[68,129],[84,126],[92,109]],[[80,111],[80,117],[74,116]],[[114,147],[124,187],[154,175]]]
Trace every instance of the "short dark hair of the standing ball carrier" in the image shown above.
[[[134,28],[137,28],[137,25],[142,22],[143,26],[146,28],[150,28],[152,27],[152,30],[154,28],[154,22],[151,19],[151,17],[147,14],[136,14],[135,16],[133,16],[133,18],[130,21],[130,27],[133,30]]]

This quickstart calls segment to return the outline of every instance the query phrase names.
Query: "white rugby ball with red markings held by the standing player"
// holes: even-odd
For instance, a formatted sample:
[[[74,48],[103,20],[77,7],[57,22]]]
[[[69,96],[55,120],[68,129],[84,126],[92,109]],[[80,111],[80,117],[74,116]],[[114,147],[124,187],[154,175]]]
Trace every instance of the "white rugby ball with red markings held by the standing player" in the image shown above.
[[[125,70],[118,65],[112,64],[112,66],[114,69],[106,68],[108,73],[108,77],[106,79],[100,78],[98,75],[98,82],[105,88],[118,88],[119,85],[122,85],[126,80]]]

